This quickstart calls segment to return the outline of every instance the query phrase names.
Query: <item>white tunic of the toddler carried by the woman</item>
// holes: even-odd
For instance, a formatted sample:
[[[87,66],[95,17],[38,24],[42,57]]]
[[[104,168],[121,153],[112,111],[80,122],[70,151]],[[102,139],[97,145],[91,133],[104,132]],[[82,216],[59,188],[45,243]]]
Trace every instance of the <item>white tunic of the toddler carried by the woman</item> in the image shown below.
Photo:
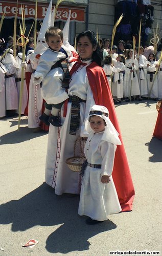
[[[70,55],[70,52],[67,52]],[[51,69],[57,61],[65,58],[64,53],[49,48],[41,55],[38,62],[34,77],[39,78],[38,83],[42,81],[41,94],[48,104],[58,104],[68,98],[65,88],[62,88],[64,79],[62,68]],[[34,83],[37,83],[37,80],[34,79]]]

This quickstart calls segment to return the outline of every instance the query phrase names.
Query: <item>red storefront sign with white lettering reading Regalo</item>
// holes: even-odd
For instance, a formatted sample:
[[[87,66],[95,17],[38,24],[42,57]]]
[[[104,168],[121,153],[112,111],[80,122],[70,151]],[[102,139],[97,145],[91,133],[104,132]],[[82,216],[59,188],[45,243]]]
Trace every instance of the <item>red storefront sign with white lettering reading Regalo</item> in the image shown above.
[[[20,2],[18,3],[17,9],[17,18],[21,18],[21,5],[25,10],[25,18],[26,19],[34,19],[35,18],[35,4]],[[54,7],[54,6],[53,6]],[[45,16],[45,12],[47,11],[48,5],[38,3],[37,6],[37,19],[42,20]],[[71,10],[71,20],[76,20],[77,22],[84,22],[84,8],[81,7],[67,7],[67,6],[59,6],[57,9],[56,20],[66,20],[68,17],[68,11]],[[5,18],[14,18],[16,14],[16,2],[12,1],[1,1],[0,2],[0,17],[2,17],[3,13],[5,13]]]

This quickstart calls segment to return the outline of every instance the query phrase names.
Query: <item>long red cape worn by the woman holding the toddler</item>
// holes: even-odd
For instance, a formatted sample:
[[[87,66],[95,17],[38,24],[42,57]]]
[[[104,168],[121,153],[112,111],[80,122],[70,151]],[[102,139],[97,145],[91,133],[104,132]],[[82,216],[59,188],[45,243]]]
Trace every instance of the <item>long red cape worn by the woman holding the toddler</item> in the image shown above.
[[[71,72],[75,72],[79,66],[80,65],[76,62]],[[97,105],[106,106],[110,114],[110,120],[120,134],[119,138],[122,145],[117,146],[112,177],[117,189],[122,211],[130,211],[132,210],[132,202],[134,199],[134,187],[107,77],[103,69],[99,67],[96,62],[92,62],[86,68],[86,71],[90,88],[94,94],[95,103]]]

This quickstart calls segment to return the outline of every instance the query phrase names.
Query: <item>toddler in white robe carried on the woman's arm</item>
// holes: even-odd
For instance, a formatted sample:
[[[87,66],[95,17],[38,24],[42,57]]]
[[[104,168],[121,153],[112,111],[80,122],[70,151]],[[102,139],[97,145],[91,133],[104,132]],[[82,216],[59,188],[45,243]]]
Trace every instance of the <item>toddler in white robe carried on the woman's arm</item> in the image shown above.
[[[45,40],[49,48],[41,55],[34,73],[34,83],[42,82],[41,94],[47,102],[39,119],[59,127],[62,126],[58,116],[59,110],[68,99],[68,60],[73,55],[63,46],[63,32],[59,28],[50,27],[45,33]],[[66,71],[63,68],[65,66]]]

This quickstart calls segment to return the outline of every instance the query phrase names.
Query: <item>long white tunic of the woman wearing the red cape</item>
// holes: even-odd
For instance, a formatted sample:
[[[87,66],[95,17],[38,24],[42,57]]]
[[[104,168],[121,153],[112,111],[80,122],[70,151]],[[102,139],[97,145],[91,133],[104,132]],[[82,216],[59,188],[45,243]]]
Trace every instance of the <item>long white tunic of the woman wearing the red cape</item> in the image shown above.
[[[86,63],[90,63],[87,61]],[[50,124],[48,135],[48,150],[46,158],[45,182],[55,188],[57,195],[63,193],[80,194],[80,175],[68,168],[67,158],[74,156],[74,142],[80,136],[88,137],[84,130],[84,120],[89,110],[95,104],[87,74],[86,66],[80,66],[72,75],[68,95],[76,95],[85,102],[80,103],[80,125],[76,135],[69,134],[72,103],[67,104],[66,117],[63,117],[64,105],[61,108],[61,127]]]

